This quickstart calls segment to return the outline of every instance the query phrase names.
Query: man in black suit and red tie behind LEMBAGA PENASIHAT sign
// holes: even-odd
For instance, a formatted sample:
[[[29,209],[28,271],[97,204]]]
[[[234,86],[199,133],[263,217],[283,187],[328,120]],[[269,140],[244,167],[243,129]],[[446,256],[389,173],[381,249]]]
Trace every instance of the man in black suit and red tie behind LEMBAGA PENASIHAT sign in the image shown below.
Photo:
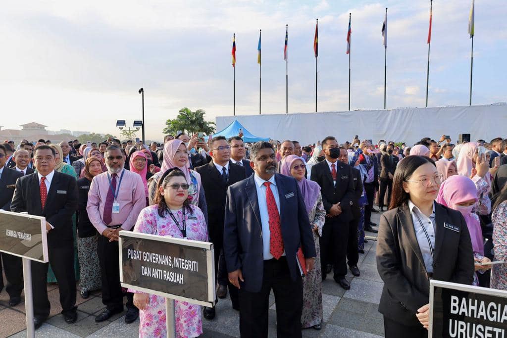
[[[39,145],[34,154],[37,173],[17,180],[11,210],[46,217],[49,262],[58,282],[62,315],[70,324],[78,318],[72,231],[72,215],[78,208],[76,179],[55,171],[52,147]],[[48,265],[31,262],[35,328],[48,318],[51,307],[46,286]]]

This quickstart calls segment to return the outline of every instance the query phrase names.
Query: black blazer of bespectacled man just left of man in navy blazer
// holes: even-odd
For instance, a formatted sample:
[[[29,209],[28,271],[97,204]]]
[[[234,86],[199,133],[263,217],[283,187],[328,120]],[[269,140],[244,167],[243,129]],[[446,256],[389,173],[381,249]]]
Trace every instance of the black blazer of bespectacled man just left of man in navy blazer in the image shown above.
[[[245,170],[243,167],[229,161],[229,179],[227,183],[222,179],[222,173],[216,169],[213,161],[197,167],[195,170],[201,175],[201,184],[206,195],[209,238],[213,244],[222,247],[227,188],[229,185],[245,179]]]

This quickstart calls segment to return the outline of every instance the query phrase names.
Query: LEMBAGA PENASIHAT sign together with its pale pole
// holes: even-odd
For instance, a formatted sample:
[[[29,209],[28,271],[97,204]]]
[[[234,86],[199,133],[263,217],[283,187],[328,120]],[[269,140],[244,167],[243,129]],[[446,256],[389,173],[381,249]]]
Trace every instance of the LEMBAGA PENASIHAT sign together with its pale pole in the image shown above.
[[[26,336],[34,337],[31,261],[48,262],[46,218],[0,210],[0,251],[23,259]]]

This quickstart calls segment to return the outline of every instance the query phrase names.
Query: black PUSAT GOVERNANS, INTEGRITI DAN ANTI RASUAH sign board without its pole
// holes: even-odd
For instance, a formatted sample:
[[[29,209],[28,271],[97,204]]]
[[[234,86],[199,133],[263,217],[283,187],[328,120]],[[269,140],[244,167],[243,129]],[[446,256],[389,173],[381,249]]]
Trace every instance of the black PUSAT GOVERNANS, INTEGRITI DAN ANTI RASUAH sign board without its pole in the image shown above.
[[[213,244],[167,236],[120,232],[123,287],[212,306]]]

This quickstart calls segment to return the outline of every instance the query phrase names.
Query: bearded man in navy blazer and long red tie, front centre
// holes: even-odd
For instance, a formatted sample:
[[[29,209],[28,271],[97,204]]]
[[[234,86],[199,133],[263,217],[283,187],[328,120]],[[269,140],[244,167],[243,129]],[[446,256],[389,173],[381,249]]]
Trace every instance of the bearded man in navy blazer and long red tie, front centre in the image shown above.
[[[224,254],[229,281],[239,288],[242,337],[267,337],[269,294],[276,300],[279,337],[301,337],[303,285],[296,252],[301,246],[307,271],[315,244],[298,182],[276,174],[268,142],[250,150],[255,174],[229,186]]]

